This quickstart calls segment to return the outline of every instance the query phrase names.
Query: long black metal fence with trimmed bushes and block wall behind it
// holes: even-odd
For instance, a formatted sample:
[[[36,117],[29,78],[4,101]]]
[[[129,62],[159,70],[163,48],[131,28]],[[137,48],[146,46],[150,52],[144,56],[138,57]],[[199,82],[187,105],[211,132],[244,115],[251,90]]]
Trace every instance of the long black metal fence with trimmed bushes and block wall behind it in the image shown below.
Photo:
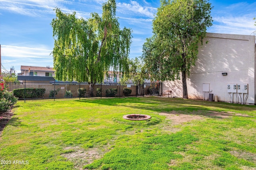
[[[92,95],[88,83],[54,81],[6,82],[8,91],[18,97],[18,102],[55,101],[70,99],[96,99],[113,97],[138,97],[144,95],[160,95],[160,82],[134,83],[102,83],[93,87]]]

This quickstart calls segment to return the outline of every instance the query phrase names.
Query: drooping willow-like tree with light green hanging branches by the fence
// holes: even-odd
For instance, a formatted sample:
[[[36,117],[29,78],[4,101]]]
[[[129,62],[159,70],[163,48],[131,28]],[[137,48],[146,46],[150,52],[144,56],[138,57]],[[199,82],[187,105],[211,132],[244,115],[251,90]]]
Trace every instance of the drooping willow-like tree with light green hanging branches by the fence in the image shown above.
[[[102,83],[110,69],[128,73],[128,55],[131,30],[120,29],[116,18],[116,2],[108,0],[102,6],[102,15],[92,13],[91,18],[76,18],[55,9],[52,20],[54,70],[61,81],[88,82],[90,96],[93,87]]]

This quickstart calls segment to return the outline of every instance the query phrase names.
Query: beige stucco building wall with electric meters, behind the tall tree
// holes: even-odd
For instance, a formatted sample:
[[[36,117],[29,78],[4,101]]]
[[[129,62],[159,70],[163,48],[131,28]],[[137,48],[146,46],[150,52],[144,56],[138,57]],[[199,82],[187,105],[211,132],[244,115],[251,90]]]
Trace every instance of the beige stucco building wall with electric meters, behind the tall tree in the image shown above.
[[[207,33],[198,51],[187,79],[189,98],[207,100],[211,93],[218,101],[256,104],[255,36]],[[166,90],[182,97],[182,81],[164,81]]]

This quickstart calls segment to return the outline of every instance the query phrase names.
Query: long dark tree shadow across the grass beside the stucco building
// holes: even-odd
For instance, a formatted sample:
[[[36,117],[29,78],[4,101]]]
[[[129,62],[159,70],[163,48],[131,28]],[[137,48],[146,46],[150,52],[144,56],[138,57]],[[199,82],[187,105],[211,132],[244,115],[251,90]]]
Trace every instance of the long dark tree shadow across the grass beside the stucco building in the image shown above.
[[[78,102],[131,107],[132,109],[145,109],[159,113],[171,113],[175,111],[178,114],[202,115],[211,118],[222,118],[224,115],[238,117],[256,116],[256,106],[253,105],[238,105],[223,102],[217,103],[194,99],[138,97],[122,99],[86,99],[78,100]]]

